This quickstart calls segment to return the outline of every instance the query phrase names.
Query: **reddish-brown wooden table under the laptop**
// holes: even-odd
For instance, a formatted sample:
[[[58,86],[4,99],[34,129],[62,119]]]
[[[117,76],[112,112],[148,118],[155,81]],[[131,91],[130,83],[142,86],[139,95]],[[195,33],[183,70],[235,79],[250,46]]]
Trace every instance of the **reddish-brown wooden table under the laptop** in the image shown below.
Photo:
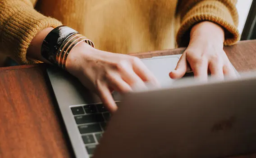
[[[224,48],[238,71],[256,70],[256,40]],[[180,54],[184,48],[138,57]],[[0,68],[0,158],[73,157],[45,64]],[[256,158],[256,154],[239,158]]]

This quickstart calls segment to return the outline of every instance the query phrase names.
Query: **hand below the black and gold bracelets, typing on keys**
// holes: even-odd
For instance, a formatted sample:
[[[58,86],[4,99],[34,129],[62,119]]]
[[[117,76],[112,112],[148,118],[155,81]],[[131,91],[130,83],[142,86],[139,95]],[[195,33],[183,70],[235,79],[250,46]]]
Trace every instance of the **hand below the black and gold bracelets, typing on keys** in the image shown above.
[[[75,46],[66,61],[70,74],[101,98],[110,112],[117,110],[111,91],[132,91],[133,85],[145,87],[145,82],[159,83],[142,61],[133,56],[104,52],[82,42]]]

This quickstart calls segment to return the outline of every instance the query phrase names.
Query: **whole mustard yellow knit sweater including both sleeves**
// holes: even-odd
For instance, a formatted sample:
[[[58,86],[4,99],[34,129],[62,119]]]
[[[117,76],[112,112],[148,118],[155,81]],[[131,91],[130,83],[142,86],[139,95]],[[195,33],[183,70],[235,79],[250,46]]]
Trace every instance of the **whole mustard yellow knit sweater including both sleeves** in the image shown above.
[[[134,53],[186,46],[191,27],[211,21],[224,44],[239,40],[237,0],[0,0],[0,53],[33,63],[27,48],[46,27],[67,25],[96,48]],[[176,36],[176,40],[175,40]]]

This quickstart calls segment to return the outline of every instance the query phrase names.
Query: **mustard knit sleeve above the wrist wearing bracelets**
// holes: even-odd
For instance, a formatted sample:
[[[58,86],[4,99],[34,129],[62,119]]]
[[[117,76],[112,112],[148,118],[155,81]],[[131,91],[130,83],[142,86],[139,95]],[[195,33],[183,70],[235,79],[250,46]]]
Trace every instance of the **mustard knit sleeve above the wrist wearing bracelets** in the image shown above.
[[[0,0],[0,53],[20,64],[36,61],[27,58],[27,48],[35,35],[61,22],[37,12],[30,0]]]

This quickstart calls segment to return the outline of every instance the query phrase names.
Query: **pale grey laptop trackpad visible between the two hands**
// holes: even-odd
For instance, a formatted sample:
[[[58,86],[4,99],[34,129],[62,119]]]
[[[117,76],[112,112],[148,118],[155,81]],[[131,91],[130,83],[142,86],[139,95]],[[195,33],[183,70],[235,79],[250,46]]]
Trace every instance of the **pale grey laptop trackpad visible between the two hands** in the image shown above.
[[[179,60],[179,55],[160,56],[142,59],[146,67],[151,70],[161,85],[172,83],[169,73],[175,69]]]

